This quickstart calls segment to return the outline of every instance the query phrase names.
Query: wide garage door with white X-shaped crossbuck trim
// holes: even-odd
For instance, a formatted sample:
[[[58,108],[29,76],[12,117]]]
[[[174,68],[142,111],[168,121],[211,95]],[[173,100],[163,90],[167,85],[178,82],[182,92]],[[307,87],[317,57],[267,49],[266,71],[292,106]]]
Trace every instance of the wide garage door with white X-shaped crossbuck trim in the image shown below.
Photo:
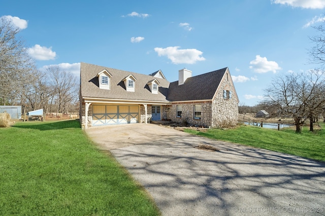
[[[92,105],[92,125],[127,124],[139,122],[137,105]]]

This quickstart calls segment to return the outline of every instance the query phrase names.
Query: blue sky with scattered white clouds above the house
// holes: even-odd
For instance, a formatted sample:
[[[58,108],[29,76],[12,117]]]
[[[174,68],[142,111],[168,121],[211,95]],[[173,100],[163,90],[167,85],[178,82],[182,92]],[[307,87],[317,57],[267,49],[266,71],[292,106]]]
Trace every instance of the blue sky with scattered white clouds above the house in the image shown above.
[[[136,73],[192,75],[229,67],[241,105],[253,106],[280,74],[307,72],[311,26],[325,0],[5,1],[0,17],[21,28],[44,69],[79,76],[80,62]]]

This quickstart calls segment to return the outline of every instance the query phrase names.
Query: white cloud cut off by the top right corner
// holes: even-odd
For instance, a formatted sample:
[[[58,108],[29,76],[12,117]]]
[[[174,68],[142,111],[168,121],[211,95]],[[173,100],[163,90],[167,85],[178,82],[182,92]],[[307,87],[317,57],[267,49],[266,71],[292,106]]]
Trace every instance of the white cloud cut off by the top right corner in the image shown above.
[[[324,0],[271,0],[271,3],[288,5],[294,8],[323,9]]]

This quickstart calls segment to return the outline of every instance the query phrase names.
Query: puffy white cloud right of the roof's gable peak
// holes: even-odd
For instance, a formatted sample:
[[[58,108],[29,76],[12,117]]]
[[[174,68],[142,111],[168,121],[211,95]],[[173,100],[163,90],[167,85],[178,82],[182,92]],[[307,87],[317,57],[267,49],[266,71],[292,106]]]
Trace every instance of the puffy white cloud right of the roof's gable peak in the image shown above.
[[[279,67],[278,63],[274,61],[268,61],[266,57],[261,57],[257,55],[253,61],[249,63],[250,69],[252,69],[256,73],[266,73],[272,71],[276,73],[277,70],[281,70],[282,68]]]

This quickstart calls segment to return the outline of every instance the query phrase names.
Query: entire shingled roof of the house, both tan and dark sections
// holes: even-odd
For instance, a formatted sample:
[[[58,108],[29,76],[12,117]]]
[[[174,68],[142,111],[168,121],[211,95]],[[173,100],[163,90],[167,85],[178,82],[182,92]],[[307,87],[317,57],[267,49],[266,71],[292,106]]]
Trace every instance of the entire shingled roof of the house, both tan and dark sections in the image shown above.
[[[99,88],[99,80],[96,75],[106,69],[112,74],[111,89]],[[211,100],[219,86],[219,83],[227,68],[204,73],[198,76],[187,78],[185,83],[178,85],[178,81],[170,83],[166,79],[157,78],[159,81],[158,94],[152,94],[148,82],[153,80],[152,75],[145,75],[129,71],[123,71],[98,65],[81,63],[80,83],[82,97],[89,98],[110,98],[126,100],[146,101],[189,101],[189,100]],[[135,92],[127,92],[122,81],[128,75],[137,78]],[[155,73],[152,73],[155,74]]]

